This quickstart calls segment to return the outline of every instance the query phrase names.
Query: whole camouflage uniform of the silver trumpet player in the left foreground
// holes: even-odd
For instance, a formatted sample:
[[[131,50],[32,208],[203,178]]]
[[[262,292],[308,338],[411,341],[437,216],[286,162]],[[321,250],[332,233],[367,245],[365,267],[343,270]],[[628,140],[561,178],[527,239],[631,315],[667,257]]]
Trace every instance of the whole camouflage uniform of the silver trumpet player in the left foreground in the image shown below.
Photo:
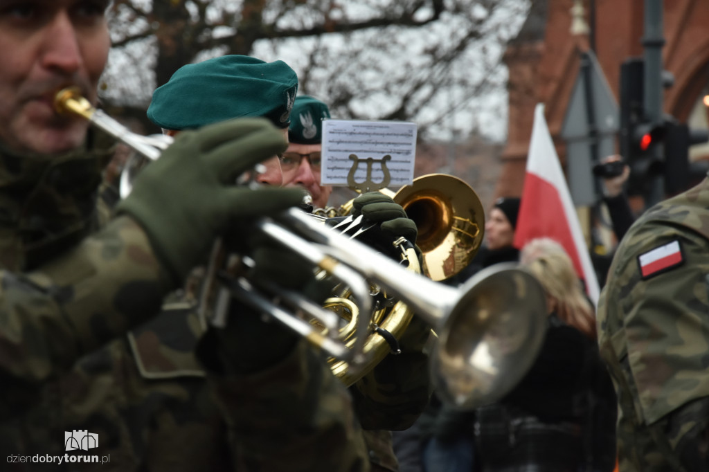
[[[36,164],[0,153],[0,457],[64,456],[65,432],[87,430],[99,446],[79,453],[108,462],[3,470],[369,470],[350,395],[304,342],[253,375],[206,373],[194,356],[204,325],[178,303],[96,350],[157,313],[169,289],[129,218],[84,240],[97,153],[110,154]]]

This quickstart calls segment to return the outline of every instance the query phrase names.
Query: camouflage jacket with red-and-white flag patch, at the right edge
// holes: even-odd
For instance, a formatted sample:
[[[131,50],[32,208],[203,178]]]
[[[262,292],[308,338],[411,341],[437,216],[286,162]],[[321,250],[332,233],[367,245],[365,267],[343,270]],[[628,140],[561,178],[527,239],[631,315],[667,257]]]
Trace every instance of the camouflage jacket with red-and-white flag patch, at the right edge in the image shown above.
[[[598,333],[618,393],[620,471],[705,471],[709,179],[627,232],[601,294]]]

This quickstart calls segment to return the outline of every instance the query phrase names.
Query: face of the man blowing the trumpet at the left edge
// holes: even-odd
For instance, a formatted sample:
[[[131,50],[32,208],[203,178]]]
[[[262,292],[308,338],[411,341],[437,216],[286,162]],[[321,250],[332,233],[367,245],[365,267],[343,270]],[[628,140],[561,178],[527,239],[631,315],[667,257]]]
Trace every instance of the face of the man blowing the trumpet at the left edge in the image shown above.
[[[18,151],[72,150],[81,118],[57,116],[55,93],[78,86],[91,103],[111,45],[108,0],[0,0],[0,141]]]

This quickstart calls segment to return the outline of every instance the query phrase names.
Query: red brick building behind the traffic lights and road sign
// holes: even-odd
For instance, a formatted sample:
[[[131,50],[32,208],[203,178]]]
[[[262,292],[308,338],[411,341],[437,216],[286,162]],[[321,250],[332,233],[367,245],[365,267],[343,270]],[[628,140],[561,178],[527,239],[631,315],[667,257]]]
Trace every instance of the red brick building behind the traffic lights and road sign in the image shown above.
[[[559,136],[569,97],[579,71],[580,52],[589,47],[618,101],[620,64],[642,56],[644,0],[584,0],[591,35],[572,35],[574,0],[532,0],[530,15],[518,37],[508,45],[508,142],[501,155],[502,169],[496,195],[519,195],[523,186],[534,107],[545,103],[549,131],[562,164],[564,142]],[[709,3],[706,0],[663,2],[664,69],[674,75],[674,86],[664,92],[664,111],[692,128],[707,128],[703,97],[709,94]],[[589,18],[589,12],[594,13]],[[593,43],[593,44],[591,44]],[[695,146],[691,159],[709,154]]]

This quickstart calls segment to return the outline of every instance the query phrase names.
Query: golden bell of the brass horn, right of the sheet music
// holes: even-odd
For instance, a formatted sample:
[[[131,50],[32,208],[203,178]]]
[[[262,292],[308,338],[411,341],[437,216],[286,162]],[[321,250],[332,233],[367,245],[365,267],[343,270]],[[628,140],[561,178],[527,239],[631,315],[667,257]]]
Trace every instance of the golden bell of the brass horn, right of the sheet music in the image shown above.
[[[403,186],[393,200],[416,223],[416,244],[430,279],[448,279],[475,257],[485,233],[485,212],[467,183],[447,174],[428,174]]]

